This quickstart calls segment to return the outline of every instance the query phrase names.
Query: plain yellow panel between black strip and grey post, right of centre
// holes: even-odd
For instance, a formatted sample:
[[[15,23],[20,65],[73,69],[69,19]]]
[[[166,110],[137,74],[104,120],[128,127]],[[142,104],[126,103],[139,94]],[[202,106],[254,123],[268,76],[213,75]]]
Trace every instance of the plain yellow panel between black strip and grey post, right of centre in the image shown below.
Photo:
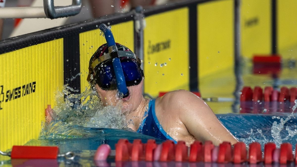
[[[233,0],[211,1],[198,5],[198,76],[203,97],[213,95],[212,81],[205,77],[233,69],[234,66],[234,4]],[[228,76],[234,76],[229,70]],[[208,82],[206,82],[208,81]],[[234,87],[220,89],[231,95]],[[218,92],[222,94],[222,92]]]

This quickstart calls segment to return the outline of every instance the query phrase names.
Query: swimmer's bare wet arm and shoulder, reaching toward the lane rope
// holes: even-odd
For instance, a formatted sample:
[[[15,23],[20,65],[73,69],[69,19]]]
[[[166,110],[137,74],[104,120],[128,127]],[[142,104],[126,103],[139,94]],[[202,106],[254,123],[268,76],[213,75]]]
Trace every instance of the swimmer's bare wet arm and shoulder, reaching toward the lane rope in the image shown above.
[[[189,133],[196,139],[212,141],[219,145],[223,141],[231,144],[237,142],[236,138],[217,119],[211,108],[198,96],[185,90],[179,90],[172,97],[176,111],[181,122],[184,123]],[[177,99],[174,99],[177,98]]]

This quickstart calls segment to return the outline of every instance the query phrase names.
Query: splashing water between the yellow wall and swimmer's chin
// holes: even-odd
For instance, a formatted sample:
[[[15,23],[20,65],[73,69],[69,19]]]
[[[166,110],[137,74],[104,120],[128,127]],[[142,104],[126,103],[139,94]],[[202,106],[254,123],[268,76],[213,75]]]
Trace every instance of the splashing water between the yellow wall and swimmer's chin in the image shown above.
[[[126,117],[121,111],[122,103],[103,106],[94,87],[81,94],[68,85],[56,95],[57,105],[53,108],[53,121],[43,123],[40,139],[85,138],[94,134],[83,127],[103,127],[130,130]],[[117,96],[118,97],[118,96]]]

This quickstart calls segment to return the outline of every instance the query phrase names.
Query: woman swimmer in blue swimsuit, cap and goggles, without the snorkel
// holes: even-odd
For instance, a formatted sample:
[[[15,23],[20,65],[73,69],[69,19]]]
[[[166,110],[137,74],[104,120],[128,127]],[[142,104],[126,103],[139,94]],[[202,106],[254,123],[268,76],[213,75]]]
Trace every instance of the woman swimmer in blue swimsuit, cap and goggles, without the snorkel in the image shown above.
[[[133,125],[129,124],[132,130],[175,142],[186,141],[188,145],[195,140],[210,140],[215,145],[223,141],[237,142],[211,108],[191,92],[176,90],[157,99],[145,99],[140,60],[129,48],[118,43],[116,46],[129,96],[119,98],[107,44],[100,46],[91,57],[87,80],[95,85],[103,105],[116,105],[122,100],[122,112],[127,120],[133,121]]]

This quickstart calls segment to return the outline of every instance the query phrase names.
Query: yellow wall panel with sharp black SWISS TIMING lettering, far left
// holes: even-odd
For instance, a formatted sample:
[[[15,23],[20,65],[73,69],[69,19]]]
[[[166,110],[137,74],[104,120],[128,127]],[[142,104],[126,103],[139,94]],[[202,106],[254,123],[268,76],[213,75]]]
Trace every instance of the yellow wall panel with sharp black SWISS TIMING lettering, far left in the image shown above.
[[[40,133],[45,108],[63,88],[63,39],[0,55],[0,150]]]

